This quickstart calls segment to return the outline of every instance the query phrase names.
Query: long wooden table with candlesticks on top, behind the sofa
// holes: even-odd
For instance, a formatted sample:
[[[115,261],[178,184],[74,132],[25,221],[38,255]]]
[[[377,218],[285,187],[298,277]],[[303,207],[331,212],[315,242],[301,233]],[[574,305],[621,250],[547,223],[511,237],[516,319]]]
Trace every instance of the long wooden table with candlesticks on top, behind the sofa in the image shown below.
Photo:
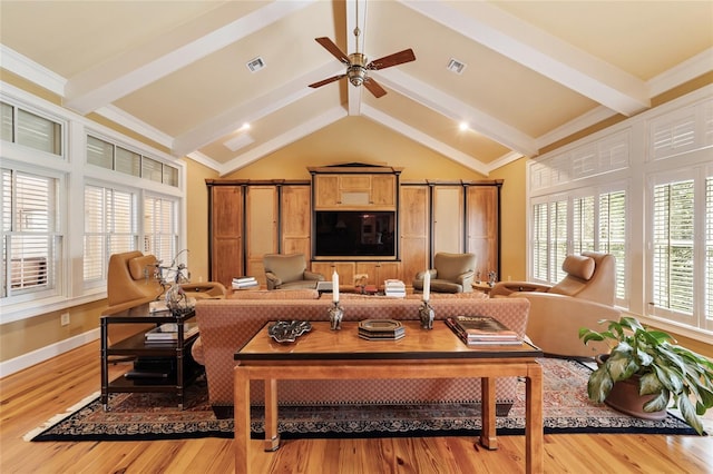
[[[250,382],[265,381],[265,451],[280,447],[277,433],[279,379],[481,378],[482,428],[480,444],[497,450],[495,381],[526,377],[526,471],[543,472],[543,369],[539,348],[520,346],[472,348],[437,320],[433,329],[419,322],[402,322],[406,337],[365,340],[358,323],[330,330],[328,322],[313,322],[312,330],[291,344],[279,344],[263,327],[235,353],[235,472],[250,472]]]

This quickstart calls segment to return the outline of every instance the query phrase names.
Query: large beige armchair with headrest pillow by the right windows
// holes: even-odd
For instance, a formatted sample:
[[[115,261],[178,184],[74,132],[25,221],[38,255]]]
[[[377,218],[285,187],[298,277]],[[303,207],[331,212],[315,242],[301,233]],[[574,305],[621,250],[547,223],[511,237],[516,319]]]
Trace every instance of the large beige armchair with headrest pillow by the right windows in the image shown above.
[[[579,328],[598,328],[600,319],[618,319],[614,306],[616,259],[612,254],[583,251],[563,263],[567,276],[554,286],[529,282],[501,282],[490,296],[524,297],[530,302],[527,336],[546,354],[594,357],[608,352],[603,343],[585,346]]]

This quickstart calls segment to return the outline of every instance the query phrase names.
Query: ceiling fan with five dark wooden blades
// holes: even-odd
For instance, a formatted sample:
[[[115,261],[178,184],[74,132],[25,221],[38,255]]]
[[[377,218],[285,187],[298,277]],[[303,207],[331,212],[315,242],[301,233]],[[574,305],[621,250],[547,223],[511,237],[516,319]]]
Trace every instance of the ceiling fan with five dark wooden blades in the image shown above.
[[[356,14],[356,17],[359,17],[359,13]],[[371,93],[374,95],[375,98],[379,98],[384,96],[387,91],[381,86],[379,86],[375,80],[369,77],[368,71],[385,69],[392,66],[398,66],[416,60],[413,50],[409,48],[404,49],[403,51],[394,52],[393,55],[384,56],[383,58],[374,59],[373,61],[368,62],[367,56],[362,52],[359,52],[359,34],[360,30],[359,27],[356,27],[354,28],[356,52],[352,52],[349,56],[344,55],[331,39],[326,37],[315,38],[316,42],[322,45],[324,49],[326,49],[332,53],[332,56],[334,56],[336,59],[342,61],[344,66],[346,66],[346,72],[343,75],[332,76],[331,78],[321,80],[319,82],[311,83],[311,88],[316,89],[318,87],[325,86],[346,77],[353,86],[359,87],[363,85],[367,89],[369,89]]]

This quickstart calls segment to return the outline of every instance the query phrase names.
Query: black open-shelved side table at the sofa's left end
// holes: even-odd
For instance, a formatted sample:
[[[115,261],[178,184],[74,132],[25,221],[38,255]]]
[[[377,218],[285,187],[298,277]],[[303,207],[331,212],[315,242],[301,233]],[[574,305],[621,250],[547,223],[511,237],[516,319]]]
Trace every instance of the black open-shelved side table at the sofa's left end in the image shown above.
[[[186,371],[186,362],[191,344],[198,337],[197,334],[184,338],[184,324],[195,317],[195,310],[180,315],[170,312],[150,313],[148,304],[120,312],[114,315],[101,316],[101,404],[104,409],[108,409],[110,393],[126,392],[164,392],[174,393],[178,396],[178,408],[183,409],[185,404],[185,391],[197,375],[197,371]],[[175,343],[146,344],[145,332],[119,340],[109,346],[109,326],[116,324],[149,323],[162,325],[164,323],[175,323],[177,325],[177,339]],[[166,359],[175,366],[175,376],[166,379],[129,379],[124,375],[114,381],[109,381],[109,356],[137,356],[156,357]]]

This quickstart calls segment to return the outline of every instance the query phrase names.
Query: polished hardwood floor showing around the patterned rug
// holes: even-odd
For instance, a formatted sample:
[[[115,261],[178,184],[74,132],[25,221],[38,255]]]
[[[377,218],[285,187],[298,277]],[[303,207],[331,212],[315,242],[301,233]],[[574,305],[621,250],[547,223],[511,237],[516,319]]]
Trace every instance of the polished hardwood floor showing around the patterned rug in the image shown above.
[[[99,345],[0,379],[0,472],[227,473],[231,440],[29,443],[22,436],[99,389]],[[117,365],[116,372],[127,366]],[[251,446],[256,473],[517,473],[524,436],[487,451],[475,437],[299,440]],[[547,473],[713,473],[713,440],[664,435],[545,435]]]

